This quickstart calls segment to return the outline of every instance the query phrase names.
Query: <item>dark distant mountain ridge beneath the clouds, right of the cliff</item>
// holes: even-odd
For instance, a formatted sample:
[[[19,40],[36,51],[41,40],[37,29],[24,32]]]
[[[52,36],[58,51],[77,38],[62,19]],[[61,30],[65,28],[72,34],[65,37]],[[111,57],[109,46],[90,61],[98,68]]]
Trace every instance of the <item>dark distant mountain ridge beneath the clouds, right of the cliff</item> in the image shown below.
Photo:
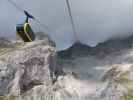
[[[58,57],[61,58],[71,58],[78,56],[87,56],[87,55],[98,55],[103,57],[112,52],[117,52],[124,50],[126,48],[131,48],[133,45],[133,36],[127,38],[117,38],[110,39],[106,42],[99,43],[96,47],[90,47],[82,43],[75,43],[70,48],[58,52]]]

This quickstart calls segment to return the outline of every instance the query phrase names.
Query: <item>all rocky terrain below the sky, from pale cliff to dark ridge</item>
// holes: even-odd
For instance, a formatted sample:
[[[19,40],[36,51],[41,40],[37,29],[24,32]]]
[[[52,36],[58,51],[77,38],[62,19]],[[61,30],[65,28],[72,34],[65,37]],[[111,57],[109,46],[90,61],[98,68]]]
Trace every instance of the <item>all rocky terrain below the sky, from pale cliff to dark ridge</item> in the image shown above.
[[[4,43],[0,48],[0,100],[133,99],[131,37],[95,48],[74,44],[58,56],[48,38]]]

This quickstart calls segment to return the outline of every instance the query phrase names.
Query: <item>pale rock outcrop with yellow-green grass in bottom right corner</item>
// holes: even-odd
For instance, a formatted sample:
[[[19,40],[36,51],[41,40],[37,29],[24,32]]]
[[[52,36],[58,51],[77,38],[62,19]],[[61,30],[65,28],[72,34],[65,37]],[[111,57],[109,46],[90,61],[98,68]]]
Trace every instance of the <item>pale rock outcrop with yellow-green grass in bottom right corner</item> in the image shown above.
[[[106,81],[101,91],[103,100],[132,100],[133,99],[133,65],[114,65],[103,77]]]

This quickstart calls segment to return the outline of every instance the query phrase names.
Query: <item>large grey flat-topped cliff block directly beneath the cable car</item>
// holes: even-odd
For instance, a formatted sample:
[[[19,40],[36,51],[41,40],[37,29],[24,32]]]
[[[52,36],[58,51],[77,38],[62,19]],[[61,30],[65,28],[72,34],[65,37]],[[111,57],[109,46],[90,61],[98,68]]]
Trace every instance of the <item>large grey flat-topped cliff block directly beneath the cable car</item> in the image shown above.
[[[19,43],[1,52],[1,96],[19,96],[35,86],[49,86],[61,70],[56,64],[55,47],[49,41]]]

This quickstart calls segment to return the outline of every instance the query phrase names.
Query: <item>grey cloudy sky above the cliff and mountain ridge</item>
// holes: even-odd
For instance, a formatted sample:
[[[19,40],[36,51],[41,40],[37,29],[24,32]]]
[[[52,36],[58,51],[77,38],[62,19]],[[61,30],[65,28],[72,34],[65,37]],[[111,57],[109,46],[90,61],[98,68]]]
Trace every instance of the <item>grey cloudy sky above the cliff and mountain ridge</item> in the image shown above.
[[[28,10],[49,30],[36,21],[30,24],[35,32],[43,31],[57,45],[57,50],[69,48],[74,35],[65,0],[12,0]],[[78,39],[89,46],[96,46],[110,38],[133,34],[132,0],[69,0]],[[15,36],[15,25],[24,14],[7,0],[0,0],[0,36]]]

